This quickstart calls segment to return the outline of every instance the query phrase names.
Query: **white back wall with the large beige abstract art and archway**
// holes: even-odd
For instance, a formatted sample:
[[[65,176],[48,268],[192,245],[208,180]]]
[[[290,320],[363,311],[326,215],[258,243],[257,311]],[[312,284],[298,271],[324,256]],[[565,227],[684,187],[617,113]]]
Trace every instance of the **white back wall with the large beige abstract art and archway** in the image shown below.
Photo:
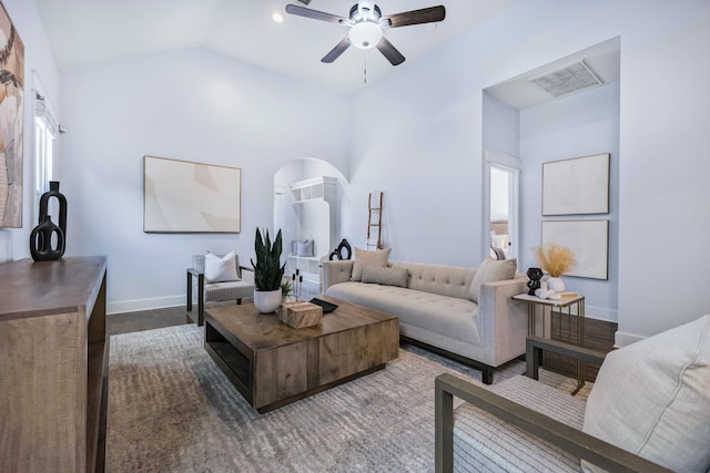
[[[108,255],[110,312],[184,304],[194,254],[248,266],[285,163],[346,167],[347,99],[201,49],[67,72],[62,99],[67,255]],[[242,233],[143,233],[143,155],[241,167]]]

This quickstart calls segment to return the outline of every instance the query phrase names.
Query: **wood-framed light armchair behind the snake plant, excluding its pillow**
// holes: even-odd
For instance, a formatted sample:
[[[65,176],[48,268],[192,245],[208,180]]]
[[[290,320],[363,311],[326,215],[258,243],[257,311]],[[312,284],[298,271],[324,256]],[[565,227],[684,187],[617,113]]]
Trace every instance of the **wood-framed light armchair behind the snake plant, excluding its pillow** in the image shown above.
[[[197,326],[204,323],[204,306],[206,302],[223,302],[235,300],[237,305],[242,299],[254,297],[254,270],[245,266],[240,266],[240,257],[235,255],[236,275],[240,280],[207,282],[204,277],[205,255],[194,255],[192,257],[192,268],[187,268],[187,300],[186,316],[187,322]],[[194,296],[193,296],[194,295]],[[193,298],[196,297],[197,308],[193,310]]]

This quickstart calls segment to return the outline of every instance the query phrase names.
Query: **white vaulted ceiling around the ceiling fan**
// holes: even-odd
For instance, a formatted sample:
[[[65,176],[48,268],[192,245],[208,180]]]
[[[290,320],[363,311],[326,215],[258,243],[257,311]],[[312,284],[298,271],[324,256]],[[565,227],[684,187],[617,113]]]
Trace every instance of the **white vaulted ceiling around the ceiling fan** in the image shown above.
[[[130,56],[202,47],[345,94],[407,68],[464,30],[516,0],[381,0],[383,17],[444,4],[436,24],[388,29],[405,55],[393,66],[377,50],[349,48],[321,62],[347,28],[285,13],[286,0],[37,0],[60,70]],[[298,1],[294,4],[303,6]],[[356,0],[312,0],[307,8],[347,17]],[[282,23],[273,13],[284,17]]]

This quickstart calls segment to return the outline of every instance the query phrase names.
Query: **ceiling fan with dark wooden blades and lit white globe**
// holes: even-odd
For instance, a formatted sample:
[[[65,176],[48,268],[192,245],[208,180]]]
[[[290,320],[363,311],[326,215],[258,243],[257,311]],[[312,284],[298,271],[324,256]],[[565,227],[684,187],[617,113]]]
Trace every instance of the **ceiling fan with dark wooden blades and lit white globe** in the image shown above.
[[[351,44],[358,49],[377,48],[379,52],[392,63],[399,65],[404,62],[404,55],[383,35],[383,29],[408,27],[410,24],[433,23],[444,20],[446,9],[444,6],[424,8],[420,10],[405,11],[403,13],[383,17],[379,7],[372,0],[359,0],[351,8],[349,17],[338,17],[323,11],[287,4],[286,12],[314,20],[328,21],[349,28],[349,32],[343,41],[337,43],[323,59],[322,62],[335,61]]]

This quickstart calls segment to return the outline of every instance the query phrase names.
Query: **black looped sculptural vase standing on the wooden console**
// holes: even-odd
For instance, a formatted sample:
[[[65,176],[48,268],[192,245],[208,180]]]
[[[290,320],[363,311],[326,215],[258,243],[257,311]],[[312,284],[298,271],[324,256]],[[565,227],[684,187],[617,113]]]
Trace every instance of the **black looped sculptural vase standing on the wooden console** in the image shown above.
[[[49,215],[49,203],[55,198],[59,205],[59,226]],[[52,246],[52,237],[54,246]],[[30,254],[36,261],[59,259],[67,248],[67,197],[59,192],[59,182],[50,181],[49,191],[40,197],[39,225],[30,233]]]

